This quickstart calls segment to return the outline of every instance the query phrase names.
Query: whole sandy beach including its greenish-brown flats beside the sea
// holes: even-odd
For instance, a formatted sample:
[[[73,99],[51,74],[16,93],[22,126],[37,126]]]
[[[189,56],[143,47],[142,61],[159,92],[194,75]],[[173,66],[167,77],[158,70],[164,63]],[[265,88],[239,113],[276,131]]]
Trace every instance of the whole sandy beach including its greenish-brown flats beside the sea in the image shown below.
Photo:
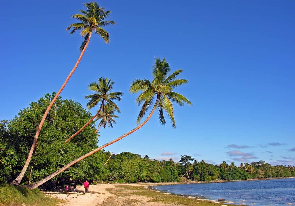
[[[63,200],[59,206],[89,206],[89,205],[134,205],[134,206],[166,206],[166,205],[217,205],[216,201],[201,200],[196,197],[172,195],[148,189],[152,185],[177,184],[170,183],[135,183],[135,184],[98,184],[90,185],[89,193],[84,194],[84,188],[77,185],[77,192],[65,192],[55,189],[44,192],[51,197]],[[218,204],[222,205],[222,204]]]

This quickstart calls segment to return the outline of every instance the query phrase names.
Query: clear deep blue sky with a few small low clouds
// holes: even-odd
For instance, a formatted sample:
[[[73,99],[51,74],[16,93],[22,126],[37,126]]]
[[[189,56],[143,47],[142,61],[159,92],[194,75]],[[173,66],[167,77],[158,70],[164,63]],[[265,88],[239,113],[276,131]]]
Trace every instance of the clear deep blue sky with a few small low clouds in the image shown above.
[[[12,119],[45,93],[56,92],[79,56],[82,37],[65,28],[82,1],[5,1],[1,11],[0,119]],[[140,110],[128,92],[151,79],[155,57],[183,69],[176,91],[193,106],[175,105],[176,129],[155,113],[137,132],[106,147],[154,159],[181,155],[220,164],[264,160],[295,165],[295,1],[99,1],[117,24],[110,43],[92,36],[61,93],[83,106],[101,76],[124,92],[120,119],[101,129],[99,145],[136,126]],[[94,114],[95,109],[91,110]],[[168,121],[167,121],[168,122]]]

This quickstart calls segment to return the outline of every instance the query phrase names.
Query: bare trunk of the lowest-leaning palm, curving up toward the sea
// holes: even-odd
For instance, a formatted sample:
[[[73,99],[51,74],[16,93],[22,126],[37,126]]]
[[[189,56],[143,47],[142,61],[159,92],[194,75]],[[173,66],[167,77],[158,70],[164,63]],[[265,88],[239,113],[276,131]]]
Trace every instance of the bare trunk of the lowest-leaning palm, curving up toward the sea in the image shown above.
[[[145,123],[148,122],[148,120],[150,119],[150,117],[152,116],[152,114],[154,113],[156,107],[157,107],[157,104],[158,104],[158,101],[159,101],[159,98],[157,98],[156,102],[155,102],[155,105],[152,109],[152,111],[150,112],[149,116],[145,119],[144,122],[142,122],[140,125],[138,125],[137,127],[135,127],[134,129],[132,129],[130,132],[127,132],[126,134],[123,134],[121,137],[118,137],[116,139],[114,139],[113,141],[111,142],[108,142],[94,150],[92,150],[91,152],[88,152],[87,154],[77,158],[76,160],[73,160],[72,162],[68,163],[67,165],[63,166],[62,168],[60,168],[58,171],[52,173],[51,175],[45,177],[43,180],[40,180],[38,182],[35,182],[34,184],[32,185],[27,185],[27,187],[30,189],[30,190],[33,190],[35,189],[36,187],[39,187],[40,185],[44,184],[45,182],[47,182],[48,180],[50,180],[51,178],[55,177],[56,175],[58,175],[59,173],[65,171],[66,169],[68,169],[69,167],[71,167],[72,165],[74,165],[75,163],[85,159],[86,157],[89,157],[90,155],[93,155],[95,152],[98,152],[99,150],[103,149],[104,147],[107,147],[111,144],[114,144],[115,142],[119,141],[120,139],[128,136],[129,134],[132,134],[133,132],[135,132],[137,129],[139,129],[140,127],[142,127],[143,125],[145,125]]]

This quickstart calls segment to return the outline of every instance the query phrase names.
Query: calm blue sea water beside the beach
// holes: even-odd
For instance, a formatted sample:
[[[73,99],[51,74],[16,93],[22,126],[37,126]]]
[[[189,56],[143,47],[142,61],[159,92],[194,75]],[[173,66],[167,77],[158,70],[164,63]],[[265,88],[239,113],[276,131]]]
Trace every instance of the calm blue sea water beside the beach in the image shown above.
[[[203,199],[223,198],[233,204],[295,205],[295,178],[252,180],[222,183],[158,185],[153,189],[173,194],[191,195]],[[243,204],[243,205],[244,205]]]

